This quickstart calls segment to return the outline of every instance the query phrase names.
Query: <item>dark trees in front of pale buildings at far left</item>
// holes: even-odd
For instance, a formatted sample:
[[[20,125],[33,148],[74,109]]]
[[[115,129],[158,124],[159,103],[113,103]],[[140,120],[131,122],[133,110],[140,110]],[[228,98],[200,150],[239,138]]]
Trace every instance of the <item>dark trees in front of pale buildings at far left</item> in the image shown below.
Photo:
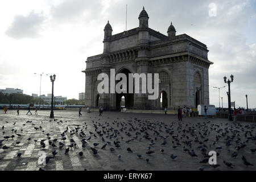
[[[39,98],[28,96],[26,94],[14,93],[14,94],[3,94],[0,92],[0,103],[1,104],[39,104]],[[41,104],[44,104],[41,100]]]

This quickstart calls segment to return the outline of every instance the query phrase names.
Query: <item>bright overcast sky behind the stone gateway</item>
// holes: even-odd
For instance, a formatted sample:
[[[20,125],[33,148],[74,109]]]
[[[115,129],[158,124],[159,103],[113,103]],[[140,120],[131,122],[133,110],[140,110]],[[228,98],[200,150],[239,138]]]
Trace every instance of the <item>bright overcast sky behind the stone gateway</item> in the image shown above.
[[[214,4],[210,4],[214,3]],[[85,60],[103,51],[105,24],[113,34],[138,27],[145,7],[149,27],[167,35],[187,34],[207,45],[210,104],[218,106],[223,77],[234,75],[232,101],[256,107],[256,1],[0,1],[0,89],[19,88],[39,94],[40,75],[56,75],[55,96],[79,97],[85,91]],[[216,7],[216,14],[214,10]],[[210,11],[210,13],[209,13]],[[213,13],[211,13],[213,12]],[[224,107],[226,92],[221,89]],[[42,94],[51,93],[49,76],[42,76]]]

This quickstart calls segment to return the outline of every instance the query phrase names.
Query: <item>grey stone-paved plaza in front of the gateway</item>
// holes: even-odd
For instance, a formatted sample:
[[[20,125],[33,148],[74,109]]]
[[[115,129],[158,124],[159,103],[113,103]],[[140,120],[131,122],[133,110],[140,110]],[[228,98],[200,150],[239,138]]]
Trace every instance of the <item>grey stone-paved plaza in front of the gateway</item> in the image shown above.
[[[179,122],[176,115],[107,111],[102,116],[96,112],[82,111],[81,117],[78,111],[55,111],[54,121],[49,118],[49,110],[38,111],[38,115],[26,113],[26,110],[20,110],[19,115],[15,110],[0,113],[0,170],[199,170],[201,167],[204,170],[255,170],[256,166],[255,152],[251,151],[256,148],[255,123],[194,117],[185,117]],[[67,139],[63,140],[61,134]],[[82,147],[83,138],[85,148]],[[54,142],[54,139],[57,140]],[[75,142],[71,142],[71,139]],[[51,146],[49,141],[56,147]],[[120,143],[115,146],[114,141]],[[59,142],[64,143],[62,149]],[[72,143],[74,146],[69,147],[68,154],[65,154],[65,148]],[[94,143],[99,144],[94,146]],[[101,149],[104,144],[106,147]],[[120,147],[117,147],[118,144]],[[7,149],[4,150],[4,146]],[[183,150],[184,146],[190,152],[194,150],[197,156],[189,155],[188,151]],[[98,153],[94,155],[90,147],[96,148]],[[127,151],[128,147],[133,152]],[[110,148],[114,148],[114,151],[110,151]],[[212,150],[219,153],[219,167],[213,168],[208,162],[200,163],[205,159],[202,153],[204,148],[207,154]],[[161,152],[161,149],[164,151]],[[55,158],[47,164],[38,163],[42,151],[46,156],[53,156],[55,150]],[[79,155],[81,151],[82,156]],[[146,154],[148,151],[154,153]],[[238,155],[232,158],[234,152]],[[22,155],[18,157],[18,153]],[[137,154],[142,157],[139,158]],[[177,158],[172,159],[171,154]],[[118,155],[121,157],[118,158]],[[242,156],[254,166],[246,166]],[[226,166],[223,160],[234,164],[234,167]]]

